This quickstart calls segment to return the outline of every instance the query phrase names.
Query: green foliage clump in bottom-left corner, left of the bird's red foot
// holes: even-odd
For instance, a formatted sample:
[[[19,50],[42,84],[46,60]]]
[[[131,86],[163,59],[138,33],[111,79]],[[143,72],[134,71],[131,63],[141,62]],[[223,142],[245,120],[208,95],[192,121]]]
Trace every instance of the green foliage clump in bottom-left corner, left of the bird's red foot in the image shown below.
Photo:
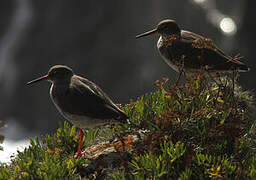
[[[65,122],[54,135],[42,137],[42,143],[37,137],[31,139],[9,168],[0,166],[0,179],[79,179],[77,169],[87,160],[74,158],[75,135],[76,128]]]

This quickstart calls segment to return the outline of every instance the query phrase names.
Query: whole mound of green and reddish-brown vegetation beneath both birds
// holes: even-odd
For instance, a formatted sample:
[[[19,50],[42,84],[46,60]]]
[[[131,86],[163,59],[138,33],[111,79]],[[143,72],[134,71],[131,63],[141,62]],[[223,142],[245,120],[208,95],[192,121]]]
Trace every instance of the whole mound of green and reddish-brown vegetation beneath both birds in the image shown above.
[[[75,159],[78,133],[65,122],[2,164],[0,179],[255,179],[252,93],[230,78],[166,82],[156,81],[158,90],[123,107],[130,124],[90,129],[83,142],[83,149],[108,141],[110,146],[117,138],[124,148]],[[131,134],[141,140],[129,140],[128,149]]]

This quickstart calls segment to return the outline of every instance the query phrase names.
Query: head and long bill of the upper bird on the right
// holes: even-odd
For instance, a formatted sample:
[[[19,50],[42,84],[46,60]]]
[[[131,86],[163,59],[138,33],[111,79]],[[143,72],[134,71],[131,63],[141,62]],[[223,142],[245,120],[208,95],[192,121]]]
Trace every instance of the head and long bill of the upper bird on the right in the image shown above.
[[[139,34],[136,36],[136,38],[140,38],[140,37],[144,37],[144,36],[148,36],[156,33],[162,36],[170,36],[173,34],[180,36],[180,28],[174,20],[165,19],[160,21],[155,29]]]

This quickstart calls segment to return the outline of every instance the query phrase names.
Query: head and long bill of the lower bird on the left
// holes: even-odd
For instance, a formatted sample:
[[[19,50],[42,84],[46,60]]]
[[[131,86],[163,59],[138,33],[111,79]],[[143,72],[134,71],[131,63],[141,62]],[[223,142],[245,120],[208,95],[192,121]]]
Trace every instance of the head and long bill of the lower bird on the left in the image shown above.
[[[34,84],[36,82],[40,82],[43,80],[51,81],[52,83],[65,82],[65,81],[69,81],[73,75],[74,75],[73,70],[68,66],[55,65],[50,68],[50,70],[45,76],[32,80],[27,84],[28,85]]]

